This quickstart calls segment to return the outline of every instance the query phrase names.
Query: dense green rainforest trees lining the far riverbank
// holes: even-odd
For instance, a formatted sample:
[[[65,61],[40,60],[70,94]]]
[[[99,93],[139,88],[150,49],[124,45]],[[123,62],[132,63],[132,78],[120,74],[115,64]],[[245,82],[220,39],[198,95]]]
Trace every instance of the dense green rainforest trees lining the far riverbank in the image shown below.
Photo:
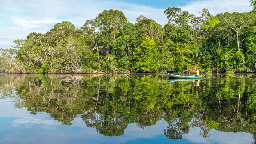
[[[254,73],[256,1],[250,12],[200,16],[168,7],[164,26],[146,16],[130,23],[104,10],[81,28],[69,21],[31,32],[0,49],[2,73]]]

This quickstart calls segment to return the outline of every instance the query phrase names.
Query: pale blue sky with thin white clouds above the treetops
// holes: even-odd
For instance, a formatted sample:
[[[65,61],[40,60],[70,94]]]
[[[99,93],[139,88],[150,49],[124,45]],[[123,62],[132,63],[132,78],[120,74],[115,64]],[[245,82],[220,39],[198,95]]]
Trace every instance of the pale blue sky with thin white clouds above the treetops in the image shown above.
[[[203,8],[212,15],[252,10],[249,0],[0,0],[0,48],[11,48],[13,40],[25,39],[30,32],[45,33],[61,21],[80,28],[111,8],[123,11],[131,23],[145,15],[164,26],[167,7],[179,7],[196,16]]]

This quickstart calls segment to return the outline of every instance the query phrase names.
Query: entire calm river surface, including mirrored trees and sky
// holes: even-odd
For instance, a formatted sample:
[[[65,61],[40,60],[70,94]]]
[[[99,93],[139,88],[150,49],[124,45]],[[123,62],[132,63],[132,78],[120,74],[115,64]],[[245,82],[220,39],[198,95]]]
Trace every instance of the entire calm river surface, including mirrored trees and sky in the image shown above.
[[[255,143],[256,74],[0,74],[0,143]]]

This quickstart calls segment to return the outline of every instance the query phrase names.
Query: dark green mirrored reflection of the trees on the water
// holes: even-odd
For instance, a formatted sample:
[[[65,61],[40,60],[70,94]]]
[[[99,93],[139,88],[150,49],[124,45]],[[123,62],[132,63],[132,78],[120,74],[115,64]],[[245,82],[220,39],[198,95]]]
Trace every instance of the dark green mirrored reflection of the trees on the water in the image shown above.
[[[15,108],[26,108],[31,115],[46,112],[62,125],[74,125],[79,118],[104,136],[122,136],[133,123],[145,131],[166,121],[162,134],[169,139],[181,140],[195,127],[202,137],[217,130],[248,132],[255,138],[255,74],[200,78],[0,74],[0,99],[12,98]]]

